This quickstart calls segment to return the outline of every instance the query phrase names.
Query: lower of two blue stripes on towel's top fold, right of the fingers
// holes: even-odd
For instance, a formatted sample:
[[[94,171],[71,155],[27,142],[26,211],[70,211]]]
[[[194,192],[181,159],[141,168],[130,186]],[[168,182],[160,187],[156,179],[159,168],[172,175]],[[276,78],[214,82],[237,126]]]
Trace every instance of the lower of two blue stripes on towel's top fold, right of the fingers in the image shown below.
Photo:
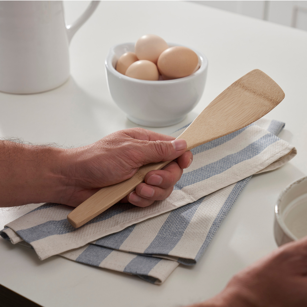
[[[278,140],[279,138],[274,134],[268,133],[237,153],[230,154],[223,157],[219,161],[215,161],[200,167],[199,169],[182,174],[180,181],[176,183],[174,189],[179,190],[188,185],[192,185],[196,182],[200,182],[217,174],[223,173],[232,166],[255,157],[266,149],[266,147],[277,142]]]

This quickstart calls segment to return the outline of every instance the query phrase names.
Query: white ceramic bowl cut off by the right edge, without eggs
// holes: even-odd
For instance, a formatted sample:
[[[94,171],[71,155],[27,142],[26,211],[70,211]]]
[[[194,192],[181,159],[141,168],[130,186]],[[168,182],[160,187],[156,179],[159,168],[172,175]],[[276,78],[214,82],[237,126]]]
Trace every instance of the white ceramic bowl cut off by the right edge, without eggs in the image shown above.
[[[307,177],[288,185],[275,205],[274,236],[278,246],[307,235]]]

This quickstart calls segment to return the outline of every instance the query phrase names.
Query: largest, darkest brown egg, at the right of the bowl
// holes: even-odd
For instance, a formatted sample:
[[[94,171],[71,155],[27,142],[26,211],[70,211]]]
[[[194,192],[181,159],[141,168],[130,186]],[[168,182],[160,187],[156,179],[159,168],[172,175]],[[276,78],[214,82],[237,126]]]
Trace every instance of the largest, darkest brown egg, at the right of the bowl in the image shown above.
[[[197,65],[197,54],[193,50],[181,46],[166,49],[161,53],[157,62],[158,69],[165,80],[189,76]]]

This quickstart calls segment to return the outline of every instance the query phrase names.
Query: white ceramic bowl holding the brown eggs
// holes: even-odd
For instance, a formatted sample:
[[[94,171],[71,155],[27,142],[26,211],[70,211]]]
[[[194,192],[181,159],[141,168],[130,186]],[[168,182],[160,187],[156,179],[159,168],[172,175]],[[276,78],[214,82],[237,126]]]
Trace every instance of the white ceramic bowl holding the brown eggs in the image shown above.
[[[105,61],[108,88],[115,103],[129,120],[138,125],[163,127],[182,121],[203,94],[207,58],[194,50],[200,64],[195,73],[174,80],[148,81],[130,78],[116,71],[117,60],[128,51],[134,52],[134,43],[116,45],[110,49]]]

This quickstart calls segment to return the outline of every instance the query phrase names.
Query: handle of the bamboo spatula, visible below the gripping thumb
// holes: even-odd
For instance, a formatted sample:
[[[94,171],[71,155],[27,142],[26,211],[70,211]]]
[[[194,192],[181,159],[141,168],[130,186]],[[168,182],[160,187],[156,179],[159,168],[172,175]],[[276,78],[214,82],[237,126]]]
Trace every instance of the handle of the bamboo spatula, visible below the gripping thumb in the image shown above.
[[[162,169],[169,162],[165,161],[143,165],[130,179],[100,189],[68,214],[67,219],[69,223],[75,228],[84,225],[132,192],[139,183],[144,181],[145,175],[148,172]]]

